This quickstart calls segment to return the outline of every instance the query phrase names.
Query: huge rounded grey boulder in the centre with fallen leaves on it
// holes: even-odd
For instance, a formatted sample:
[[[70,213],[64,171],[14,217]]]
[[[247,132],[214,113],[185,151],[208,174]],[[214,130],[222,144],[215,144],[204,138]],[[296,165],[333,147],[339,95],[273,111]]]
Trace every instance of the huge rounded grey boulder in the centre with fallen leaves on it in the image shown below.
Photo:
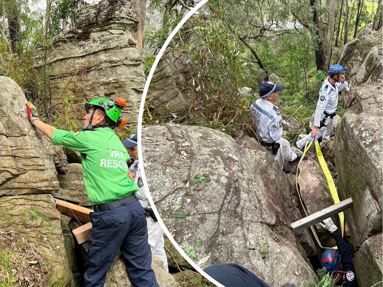
[[[201,267],[237,263],[272,287],[318,280],[290,229],[286,176],[264,148],[254,154],[217,130],[165,124],[142,129],[142,153],[162,220],[182,248],[201,241],[192,258],[208,258]],[[193,184],[196,176],[206,182]]]

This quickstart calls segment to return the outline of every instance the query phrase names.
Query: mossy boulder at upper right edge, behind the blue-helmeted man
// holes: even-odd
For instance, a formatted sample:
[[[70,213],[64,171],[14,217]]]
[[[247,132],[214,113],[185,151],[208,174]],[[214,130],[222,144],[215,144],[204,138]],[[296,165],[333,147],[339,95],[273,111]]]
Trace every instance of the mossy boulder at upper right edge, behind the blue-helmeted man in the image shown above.
[[[339,64],[346,69],[346,80],[350,86],[350,91],[343,90],[339,98],[344,106],[350,106],[359,85],[383,84],[382,44],[382,33],[366,29],[340,51]]]

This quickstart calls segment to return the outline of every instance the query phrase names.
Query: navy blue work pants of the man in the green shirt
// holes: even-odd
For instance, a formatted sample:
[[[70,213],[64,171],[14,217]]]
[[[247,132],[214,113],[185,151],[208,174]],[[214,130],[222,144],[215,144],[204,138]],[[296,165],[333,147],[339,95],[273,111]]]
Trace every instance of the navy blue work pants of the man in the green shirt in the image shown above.
[[[126,202],[128,203],[128,202]],[[108,204],[113,208],[111,204]],[[85,287],[102,287],[106,271],[121,251],[126,271],[135,287],[159,287],[151,267],[152,253],[147,241],[146,215],[139,201],[92,212]]]

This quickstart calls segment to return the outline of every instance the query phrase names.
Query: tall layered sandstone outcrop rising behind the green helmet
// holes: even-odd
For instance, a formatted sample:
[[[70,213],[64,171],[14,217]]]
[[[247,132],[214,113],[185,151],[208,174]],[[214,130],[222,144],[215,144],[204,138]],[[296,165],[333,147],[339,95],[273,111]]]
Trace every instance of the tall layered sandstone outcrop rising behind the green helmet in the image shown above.
[[[78,119],[84,116],[83,105],[74,104],[121,97],[127,101],[127,125],[135,125],[145,76],[134,39],[138,18],[132,3],[101,0],[80,7],[74,21],[77,30],[59,36],[48,55],[48,67],[55,71],[49,79],[52,105]]]

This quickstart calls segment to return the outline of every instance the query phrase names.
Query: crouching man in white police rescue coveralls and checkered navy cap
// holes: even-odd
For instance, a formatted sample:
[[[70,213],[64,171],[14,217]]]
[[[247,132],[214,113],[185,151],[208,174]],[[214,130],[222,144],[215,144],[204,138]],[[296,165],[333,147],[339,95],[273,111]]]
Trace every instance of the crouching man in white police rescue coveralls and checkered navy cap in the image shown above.
[[[250,107],[255,133],[262,139],[264,145],[273,155],[280,168],[285,173],[290,173],[290,168],[283,166],[284,160],[300,160],[303,153],[296,153],[290,147],[290,142],[283,139],[282,115],[274,104],[278,101],[282,84],[262,82],[259,87],[260,99]]]

